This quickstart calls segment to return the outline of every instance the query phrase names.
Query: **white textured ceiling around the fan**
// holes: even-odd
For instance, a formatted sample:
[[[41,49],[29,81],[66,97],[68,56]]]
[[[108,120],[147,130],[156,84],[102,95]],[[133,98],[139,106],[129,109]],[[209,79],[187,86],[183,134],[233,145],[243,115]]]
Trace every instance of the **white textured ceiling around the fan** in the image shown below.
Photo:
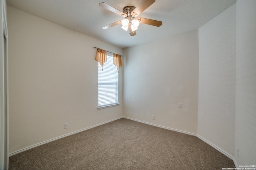
[[[122,48],[198,29],[236,3],[236,0],[156,0],[139,16],[162,21],[160,27],[140,24],[133,37],[121,25],[102,29],[123,17],[100,7],[100,2],[122,11],[125,6],[138,6],[141,1],[6,0],[14,8]]]

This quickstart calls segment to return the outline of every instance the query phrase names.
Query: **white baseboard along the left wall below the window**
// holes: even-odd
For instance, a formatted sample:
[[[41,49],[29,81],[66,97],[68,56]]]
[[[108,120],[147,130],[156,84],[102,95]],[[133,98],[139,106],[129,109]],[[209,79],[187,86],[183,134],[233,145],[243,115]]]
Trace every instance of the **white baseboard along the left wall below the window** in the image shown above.
[[[32,145],[32,146],[30,146],[30,147],[26,147],[26,148],[17,150],[17,151],[15,151],[15,152],[9,153],[9,157],[12,156],[12,155],[18,154],[18,153],[20,153],[20,152],[24,152],[25,150],[29,150],[29,149],[38,147],[38,146],[40,146],[40,145],[44,145],[44,144],[46,144],[46,143],[52,142],[52,141],[56,141],[56,140],[58,140],[58,139],[61,139],[61,138],[64,138],[64,137],[67,137],[67,136],[70,136],[70,135],[74,135],[74,134],[76,134],[76,133],[79,133],[79,132],[82,132],[82,131],[86,131],[86,130],[88,130],[88,129],[92,129],[92,128],[94,128],[94,127],[97,127],[97,126],[100,126],[100,125],[103,125],[103,124],[105,124],[105,123],[109,123],[109,122],[111,122],[111,121],[115,121],[115,120],[121,119],[121,118],[123,118],[123,116],[118,117],[118,118],[115,118],[115,119],[112,119],[112,120],[109,120],[109,121],[105,121],[105,122],[103,122],[103,123],[99,123],[99,124],[97,124],[97,125],[93,125],[93,126],[90,126],[90,127],[84,128],[84,129],[81,129],[81,130],[78,130],[78,131],[74,131],[74,132],[72,132],[72,133],[68,133],[68,134],[66,134],[66,135],[62,135],[62,136],[59,136],[59,137],[56,137],[56,138],[53,138],[53,139],[50,139],[50,140],[47,140],[47,141],[44,141],[44,142],[41,142],[41,143],[37,143],[37,144]]]

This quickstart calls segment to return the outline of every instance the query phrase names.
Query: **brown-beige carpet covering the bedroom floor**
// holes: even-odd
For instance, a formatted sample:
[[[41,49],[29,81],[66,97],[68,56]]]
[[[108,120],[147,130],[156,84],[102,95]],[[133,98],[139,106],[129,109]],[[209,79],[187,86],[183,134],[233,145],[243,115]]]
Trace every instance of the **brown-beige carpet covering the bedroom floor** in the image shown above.
[[[10,157],[10,170],[221,170],[233,161],[194,136],[129,119]]]

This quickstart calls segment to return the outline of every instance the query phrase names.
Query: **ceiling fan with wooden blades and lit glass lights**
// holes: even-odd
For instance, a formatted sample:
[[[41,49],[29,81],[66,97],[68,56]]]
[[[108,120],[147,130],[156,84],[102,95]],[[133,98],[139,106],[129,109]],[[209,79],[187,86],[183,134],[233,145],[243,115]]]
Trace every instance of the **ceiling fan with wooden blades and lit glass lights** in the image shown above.
[[[150,20],[146,18],[137,18],[140,13],[142,13],[144,10],[146,10],[150,5],[152,5],[155,2],[155,0],[142,0],[140,4],[135,8],[134,6],[126,6],[123,9],[123,12],[117,10],[116,8],[102,2],[99,4],[102,8],[105,8],[107,10],[110,10],[111,12],[114,12],[125,19],[116,21],[114,23],[111,23],[109,25],[106,25],[105,27],[102,27],[102,29],[108,29],[110,27],[113,27],[118,24],[122,24],[122,29],[125,31],[128,31],[131,36],[136,35],[136,30],[138,29],[138,26],[140,23],[145,23],[148,25],[153,25],[156,27],[160,27],[162,25],[162,21],[156,21],[156,20]]]

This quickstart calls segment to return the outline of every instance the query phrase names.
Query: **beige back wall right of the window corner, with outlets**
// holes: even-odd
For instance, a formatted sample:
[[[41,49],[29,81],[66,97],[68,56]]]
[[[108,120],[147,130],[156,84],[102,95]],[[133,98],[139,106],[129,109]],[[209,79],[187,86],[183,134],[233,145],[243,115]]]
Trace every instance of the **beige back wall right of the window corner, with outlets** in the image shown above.
[[[125,55],[124,116],[196,134],[198,31],[130,47]]]

